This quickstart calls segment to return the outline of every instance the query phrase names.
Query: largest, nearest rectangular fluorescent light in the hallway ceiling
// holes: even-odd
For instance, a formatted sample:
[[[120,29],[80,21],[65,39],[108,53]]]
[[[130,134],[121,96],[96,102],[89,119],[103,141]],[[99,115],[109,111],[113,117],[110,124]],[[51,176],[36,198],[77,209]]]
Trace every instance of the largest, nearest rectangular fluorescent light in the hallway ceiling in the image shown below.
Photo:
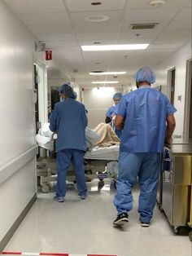
[[[149,46],[148,43],[124,44],[124,45],[99,45],[81,46],[82,51],[123,51],[123,50],[144,50]]]

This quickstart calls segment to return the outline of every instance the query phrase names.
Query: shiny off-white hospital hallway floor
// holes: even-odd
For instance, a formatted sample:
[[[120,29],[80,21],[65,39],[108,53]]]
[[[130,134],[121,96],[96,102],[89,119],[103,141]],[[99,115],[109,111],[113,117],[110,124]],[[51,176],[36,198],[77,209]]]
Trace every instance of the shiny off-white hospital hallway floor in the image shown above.
[[[107,254],[117,256],[191,256],[187,234],[175,235],[168,220],[155,207],[150,227],[141,227],[137,216],[138,188],[133,188],[134,205],[124,229],[113,227],[116,192],[113,181],[87,183],[89,197],[81,200],[73,183],[63,203],[53,201],[55,193],[41,192],[37,201],[12,236],[4,251],[28,253]]]

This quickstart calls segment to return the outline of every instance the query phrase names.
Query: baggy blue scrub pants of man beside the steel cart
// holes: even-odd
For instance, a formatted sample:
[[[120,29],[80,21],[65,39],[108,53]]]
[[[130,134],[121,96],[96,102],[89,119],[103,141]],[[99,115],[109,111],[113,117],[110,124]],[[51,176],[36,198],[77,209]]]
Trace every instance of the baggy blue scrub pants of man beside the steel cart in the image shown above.
[[[131,189],[138,177],[140,184],[138,213],[142,222],[150,222],[156,202],[160,154],[120,152],[118,164],[117,190],[113,201],[117,213],[122,214],[132,210],[133,196]]]

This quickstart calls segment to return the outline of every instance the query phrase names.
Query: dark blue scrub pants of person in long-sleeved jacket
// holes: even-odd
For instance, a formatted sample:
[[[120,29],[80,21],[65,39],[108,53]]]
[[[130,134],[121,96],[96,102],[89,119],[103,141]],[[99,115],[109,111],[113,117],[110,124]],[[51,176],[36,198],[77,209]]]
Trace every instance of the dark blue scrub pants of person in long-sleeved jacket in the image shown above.
[[[66,194],[66,174],[71,162],[75,169],[78,195],[86,195],[84,154],[85,152],[76,149],[65,149],[57,152],[57,196],[64,197]]]

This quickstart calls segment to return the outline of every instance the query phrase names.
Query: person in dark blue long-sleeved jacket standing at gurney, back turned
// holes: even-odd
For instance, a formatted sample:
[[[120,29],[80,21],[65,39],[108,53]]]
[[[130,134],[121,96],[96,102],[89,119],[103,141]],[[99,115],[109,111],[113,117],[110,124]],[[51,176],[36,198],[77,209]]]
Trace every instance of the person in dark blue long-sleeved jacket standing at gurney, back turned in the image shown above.
[[[50,116],[50,130],[57,134],[57,192],[54,200],[64,201],[66,174],[71,162],[75,169],[78,195],[85,199],[87,186],[83,157],[86,151],[85,127],[88,122],[85,106],[76,101],[74,90],[67,84],[59,87],[59,94],[62,101],[55,104]]]

